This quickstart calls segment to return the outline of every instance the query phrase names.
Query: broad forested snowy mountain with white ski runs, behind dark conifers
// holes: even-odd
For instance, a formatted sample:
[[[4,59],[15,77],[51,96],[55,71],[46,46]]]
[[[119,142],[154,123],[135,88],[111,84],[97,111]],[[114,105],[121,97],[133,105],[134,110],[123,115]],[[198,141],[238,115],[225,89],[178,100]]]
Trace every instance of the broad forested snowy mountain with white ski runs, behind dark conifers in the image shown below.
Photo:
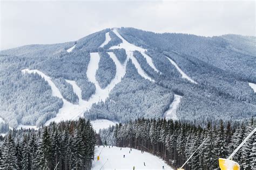
[[[75,42],[8,49],[0,52],[1,124],[251,118],[255,54],[255,37],[123,27]]]

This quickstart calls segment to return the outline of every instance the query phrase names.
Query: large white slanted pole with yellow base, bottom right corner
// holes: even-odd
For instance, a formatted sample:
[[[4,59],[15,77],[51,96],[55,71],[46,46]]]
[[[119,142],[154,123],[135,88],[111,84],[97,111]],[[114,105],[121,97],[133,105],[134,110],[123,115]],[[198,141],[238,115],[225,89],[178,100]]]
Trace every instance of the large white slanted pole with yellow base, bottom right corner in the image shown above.
[[[242,145],[245,144],[245,142],[253,135],[253,133],[256,131],[256,128],[248,134],[248,136],[245,138],[244,141],[234,150],[234,152],[228,157],[227,159],[219,158],[219,166],[221,170],[239,170],[240,166],[237,162],[233,161],[233,155],[237,153],[237,151],[242,147]]]

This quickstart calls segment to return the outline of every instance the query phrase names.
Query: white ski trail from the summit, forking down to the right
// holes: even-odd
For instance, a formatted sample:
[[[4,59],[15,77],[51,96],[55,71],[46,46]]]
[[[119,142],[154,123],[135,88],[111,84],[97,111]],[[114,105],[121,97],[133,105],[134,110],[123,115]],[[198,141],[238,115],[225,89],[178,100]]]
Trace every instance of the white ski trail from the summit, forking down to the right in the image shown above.
[[[136,67],[136,69],[138,70],[139,75],[141,75],[142,77],[144,77],[144,79],[150,80],[152,82],[154,82],[154,80],[147,75],[144,70],[142,69],[142,67],[140,67],[139,62],[137,61],[136,58],[134,58],[133,56],[133,51],[139,51],[140,53],[143,54],[143,56],[146,58],[147,63],[149,63],[149,65],[153,68],[153,62],[152,59],[150,58],[150,56],[145,54],[146,49],[140,48],[138,46],[135,46],[133,44],[130,44],[129,42],[127,42],[122,36],[120,36],[120,34],[117,32],[116,29],[113,30],[113,32],[117,35],[117,37],[119,37],[120,39],[122,39],[122,43],[120,43],[117,46],[112,46],[110,47],[110,49],[120,49],[120,48],[124,48],[125,52],[127,54],[127,59],[131,59],[132,63],[134,64],[134,66]],[[144,55],[145,54],[145,55]],[[156,68],[156,67],[154,67]],[[153,68],[153,69],[154,69]],[[159,71],[158,71],[159,72]]]

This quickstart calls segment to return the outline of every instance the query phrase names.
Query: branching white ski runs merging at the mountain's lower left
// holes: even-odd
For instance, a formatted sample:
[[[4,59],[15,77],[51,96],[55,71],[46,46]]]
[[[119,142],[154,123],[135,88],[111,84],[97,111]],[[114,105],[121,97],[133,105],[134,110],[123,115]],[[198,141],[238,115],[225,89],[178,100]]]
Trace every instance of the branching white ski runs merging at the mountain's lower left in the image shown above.
[[[66,121],[66,120],[72,120],[72,119],[78,119],[79,117],[84,116],[84,112],[86,110],[89,110],[92,106],[93,103],[98,103],[100,101],[105,102],[106,98],[109,97],[110,91],[116,86],[117,83],[119,83],[122,79],[122,77],[126,73],[125,66],[123,66],[119,60],[117,59],[116,55],[114,53],[110,52],[109,53],[110,58],[114,61],[116,64],[117,68],[117,74],[114,77],[114,79],[110,82],[110,84],[105,88],[102,89],[100,88],[97,80],[96,80],[96,71],[98,69],[98,63],[100,56],[98,53],[90,53],[90,62],[87,67],[87,78],[89,81],[95,84],[96,86],[96,91],[95,94],[93,94],[88,101],[84,101],[82,99],[82,90],[77,86],[77,83],[72,80],[66,80],[66,82],[70,83],[71,86],[73,87],[73,91],[77,94],[79,98],[79,103],[78,104],[72,104],[63,98],[62,94],[60,93],[59,89],[55,86],[55,83],[51,81],[51,77],[45,75],[43,72],[39,70],[29,70],[29,69],[23,69],[22,73],[37,73],[41,75],[47,81],[52,89],[52,95],[56,96],[60,99],[63,100],[63,107],[59,109],[58,114],[56,117],[49,119],[45,125],[49,125],[50,122],[61,122],[61,121]],[[127,60],[125,61],[126,65]],[[102,120],[101,120],[102,121]],[[108,121],[105,120],[102,128],[108,128],[109,125],[115,125],[116,122]],[[23,125],[24,126],[24,125]],[[98,123],[96,121],[95,123],[95,129],[99,129]]]

